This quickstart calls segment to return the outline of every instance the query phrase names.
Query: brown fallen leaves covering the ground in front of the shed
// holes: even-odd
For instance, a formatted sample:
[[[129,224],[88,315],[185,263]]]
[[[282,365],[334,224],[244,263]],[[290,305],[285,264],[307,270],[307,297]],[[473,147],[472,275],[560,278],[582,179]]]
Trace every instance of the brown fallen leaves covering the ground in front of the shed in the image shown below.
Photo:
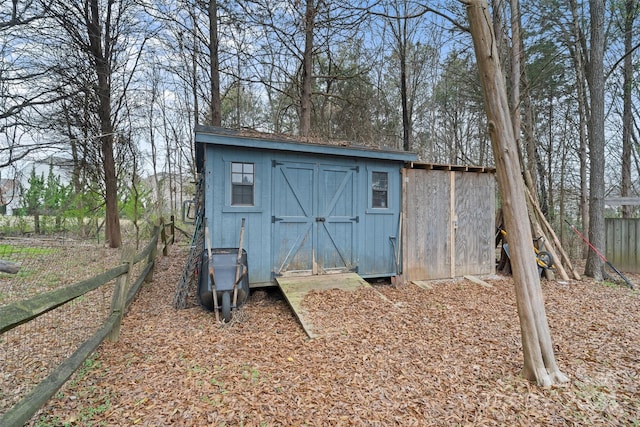
[[[310,340],[278,290],[253,292],[223,327],[199,307],[173,309],[184,259],[177,246],[159,259],[120,341],[101,345],[33,425],[640,423],[640,303],[626,288],[543,283],[571,382],[539,388],[518,376],[510,278],[312,292],[304,304],[330,333]]]

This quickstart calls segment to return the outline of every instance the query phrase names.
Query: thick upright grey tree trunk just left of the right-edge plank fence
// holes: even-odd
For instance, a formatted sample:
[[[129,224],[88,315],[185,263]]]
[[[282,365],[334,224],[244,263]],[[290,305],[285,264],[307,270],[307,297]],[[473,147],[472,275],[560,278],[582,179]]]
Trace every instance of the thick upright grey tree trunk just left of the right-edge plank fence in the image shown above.
[[[591,13],[589,84],[589,240],[604,250],[604,0],[589,0]],[[602,280],[604,262],[589,251],[584,274]]]

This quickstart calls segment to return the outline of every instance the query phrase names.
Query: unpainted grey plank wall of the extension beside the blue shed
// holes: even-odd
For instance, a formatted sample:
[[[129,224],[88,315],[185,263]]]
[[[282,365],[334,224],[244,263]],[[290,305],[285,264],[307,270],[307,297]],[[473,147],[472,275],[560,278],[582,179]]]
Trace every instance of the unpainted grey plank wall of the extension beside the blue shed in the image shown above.
[[[495,272],[493,174],[405,169],[403,185],[405,279]]]

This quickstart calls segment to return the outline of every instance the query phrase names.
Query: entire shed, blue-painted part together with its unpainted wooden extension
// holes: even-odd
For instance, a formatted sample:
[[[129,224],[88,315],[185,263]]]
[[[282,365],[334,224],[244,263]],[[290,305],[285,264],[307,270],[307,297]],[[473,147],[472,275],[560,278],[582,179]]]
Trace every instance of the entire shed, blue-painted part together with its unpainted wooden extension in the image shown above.
[[[336,272],[431,280],[495,271],[491,168],[207,126],[196,143],[212,247],[237,247],[245,218],[252,287]]]

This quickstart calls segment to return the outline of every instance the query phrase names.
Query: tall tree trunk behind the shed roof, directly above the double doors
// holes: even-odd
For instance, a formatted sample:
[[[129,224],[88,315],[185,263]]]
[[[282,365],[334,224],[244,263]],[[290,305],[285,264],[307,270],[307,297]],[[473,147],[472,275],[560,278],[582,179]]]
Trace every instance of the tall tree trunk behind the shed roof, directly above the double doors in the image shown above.
[[[307,0],[304,19],[304,54],[302,57],[302,89],[300,90],[300,136],[308,137],[311,131],[311,91],[313,88],[313,31],[315,6]]]

